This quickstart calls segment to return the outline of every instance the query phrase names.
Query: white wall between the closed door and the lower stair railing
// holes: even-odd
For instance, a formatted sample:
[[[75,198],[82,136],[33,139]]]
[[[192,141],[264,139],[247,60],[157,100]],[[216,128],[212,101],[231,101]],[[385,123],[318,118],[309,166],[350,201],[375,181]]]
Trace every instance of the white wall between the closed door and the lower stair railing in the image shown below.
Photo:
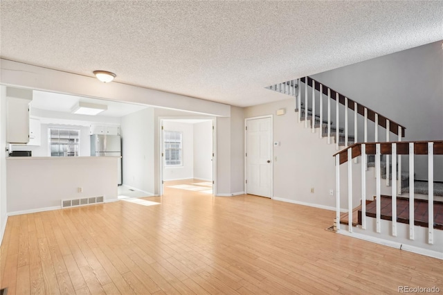
[[[287,109],[286,114],[275,116],[282,108]],[[272,141],[280,141],[280,146],[273,147],[273,197],[334,207],[335,197],[329,196],[329,189],[335,188],[334,145],[327,145],[325,138],[319,139],[298,123],[291,98],[244,110],[245,118],[269,114],[273,115]]]

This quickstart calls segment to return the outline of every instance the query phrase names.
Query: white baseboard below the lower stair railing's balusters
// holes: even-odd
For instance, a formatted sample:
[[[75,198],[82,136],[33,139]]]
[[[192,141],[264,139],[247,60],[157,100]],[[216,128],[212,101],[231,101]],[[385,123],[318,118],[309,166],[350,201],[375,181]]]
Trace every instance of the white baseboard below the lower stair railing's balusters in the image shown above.
[[[376,244],[382,244],[382,245],[385,245],[388,247],[401,249],[401,250],[405,250],[405,251],[409,251],[409,252],[421,254],[424,256],[429,256],[429,257],[443,260],[443,253],[442,252],[437,252],[437,251],[433,251],[433,250],[429,250],[429,249],[415,247],[415,246],[408,245],[408,244],[402,244],[399,242],[376,238],[376,237],[373,237],[372,235],[363,235],[361,233],[350,233],[349,231],[346,231],[343,229],[338,230],[337,233],[340,233],[341,235],[347,235],[352,238],[357,238],[360,240],[365,240],[365,241],[373,242]]]

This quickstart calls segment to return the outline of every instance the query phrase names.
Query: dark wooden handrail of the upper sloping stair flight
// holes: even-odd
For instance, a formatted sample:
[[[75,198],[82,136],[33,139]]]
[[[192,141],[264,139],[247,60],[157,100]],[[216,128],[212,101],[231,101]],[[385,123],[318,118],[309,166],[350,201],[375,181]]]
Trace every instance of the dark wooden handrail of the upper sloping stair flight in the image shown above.
[[[305,77],[300,78],[301,82],[305,83],[306,79]],[[331,99],[336,100],[336,93],[338,93],[338,102],[340,102],[342,105],[345,105],[345,96],[343,94],[339,93],[338,91],[335,91],[334,89],[327,87],[325,84],[318,82],[317,80],[312,79],[311,77],[307,77],[307,84],[308,86],[312,87],[312,81],[315,81],[315,89],[317,91],[320,91],[320,84],[323,85],[323,94],[327,96],[327,89],[330,89],[331,91]],[[347,98],[347,107],[348,109],[352,109],[354,111],[354,100]],[[378,114],[378,120],[379,120],[379,126],[386,129],[386,120],[389,120],[389,131],[394,134],[399,134],[399,127],[401,127],[401,137],[405,136],[406,127],[403,125],[400,125],[399,123],[396,123],[395,121],[392,121],[385,116],[377,113],[377,111],[373,111],[372,109],[365,107],[364,105],[361,105],[359,102],[356,102],[357,104],[357,112],[361,116],[365,116],[365,109],[368,109],[368,119],[372,120],[372,122],[375,123],[375,114]]]

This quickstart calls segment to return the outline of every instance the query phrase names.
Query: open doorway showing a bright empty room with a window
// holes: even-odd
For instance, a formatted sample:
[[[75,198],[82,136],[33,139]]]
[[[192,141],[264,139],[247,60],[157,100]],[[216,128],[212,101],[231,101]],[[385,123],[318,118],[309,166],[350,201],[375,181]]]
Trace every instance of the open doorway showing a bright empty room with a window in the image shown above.
[[[215,195],[215,120],[161,118],[159,126],[161,195],[166,187]]]

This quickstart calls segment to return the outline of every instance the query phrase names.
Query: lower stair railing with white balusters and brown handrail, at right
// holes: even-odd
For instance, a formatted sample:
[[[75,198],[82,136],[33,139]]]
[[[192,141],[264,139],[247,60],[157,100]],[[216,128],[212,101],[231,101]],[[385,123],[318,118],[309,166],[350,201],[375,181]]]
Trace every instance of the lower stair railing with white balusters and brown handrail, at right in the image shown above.
[[[355,183],[352,173],[352,159],[361,158],[361,228],[366,229],[366,156],[374,155],[376,169],[376,227],[381,233],[381,155],[392,156],[392,236],[397,236],[397,185],[401,182],[401,170],[397,169],[397,155],[409,157],[409,239],[414,240],[414,155],[428,156],[428,244],[433,244],[434,224],[434,157],[443,155],[443,141],[397,141],[384,143],[355,143],[334,154],[336,163],[336,228],[340,230],[340,166],[347,163],[347,210],[348,231],[352,233],[352,184]],[[389,166],[389,163],[386,163]],[[386,175],[389,178],[389,174]]]

